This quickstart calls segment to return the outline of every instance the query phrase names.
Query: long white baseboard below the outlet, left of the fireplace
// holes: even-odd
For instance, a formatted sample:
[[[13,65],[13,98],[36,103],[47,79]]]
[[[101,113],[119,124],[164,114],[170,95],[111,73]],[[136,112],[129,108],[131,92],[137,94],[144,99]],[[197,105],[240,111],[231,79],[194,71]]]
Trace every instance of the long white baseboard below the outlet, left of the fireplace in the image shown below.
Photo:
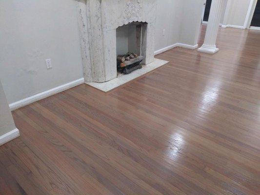
[[[41,92],[41,93],[36,94],[34,96],[21,99],[19,101],[14,102],[14,103],[10,103],[9,104],[10,110],[11,111],[16,110],[16,109],[18,109],[20,107],[26,106],[26,105],[28,105],[30,103],[33,103],[35,101],[38,101],[40,99],[47,98],[47,97],[52,96],[54,94],[58,94],[58,93],[60,93],[62,91],[70,89],[72,87],[76,87],[76,86],[78,86],[78,85],[80,85],[82,83],[84,83],[84,78],[80,78],[78,80],[74,80],[74,81],[66,83],[64,85],[60,85],[60,86],[52,88],[50,90]]]

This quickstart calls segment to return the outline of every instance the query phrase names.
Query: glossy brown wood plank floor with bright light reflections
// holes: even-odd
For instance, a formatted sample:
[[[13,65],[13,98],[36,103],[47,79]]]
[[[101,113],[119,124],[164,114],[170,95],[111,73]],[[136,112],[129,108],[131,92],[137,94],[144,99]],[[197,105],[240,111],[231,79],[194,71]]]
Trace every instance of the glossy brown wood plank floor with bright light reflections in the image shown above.
[[[106,95],[83,84],[14,111],[0,194],[260,195],[260,31],[218,43],[160,54]]]

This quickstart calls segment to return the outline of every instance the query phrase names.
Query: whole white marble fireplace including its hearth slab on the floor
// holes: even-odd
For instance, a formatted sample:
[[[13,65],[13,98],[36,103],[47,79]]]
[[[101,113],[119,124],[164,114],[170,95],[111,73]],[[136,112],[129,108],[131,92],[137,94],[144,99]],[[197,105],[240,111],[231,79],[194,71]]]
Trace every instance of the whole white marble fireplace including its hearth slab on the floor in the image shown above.
[[[154,58],[157,0],[86,0],[79,7],[81,55],[85,82],[109,91],[167,63]],[[140,53],[145,68],[117,74],[117,28],[142,22]],[[103,87],[102,87],[103,86]],[[109,90],[108,90],[109,89]]]

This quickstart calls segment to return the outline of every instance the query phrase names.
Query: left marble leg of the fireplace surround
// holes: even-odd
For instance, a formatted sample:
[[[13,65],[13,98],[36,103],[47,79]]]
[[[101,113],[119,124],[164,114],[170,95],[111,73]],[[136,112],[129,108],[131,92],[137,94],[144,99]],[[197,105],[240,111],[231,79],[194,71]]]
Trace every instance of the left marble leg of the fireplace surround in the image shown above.
[[[85,82],[106,82],[117,77],[116,29],[104,28],[101,3],[101,0],[86,1],[91,65],[83,69],[90,72],[84,73]]]

